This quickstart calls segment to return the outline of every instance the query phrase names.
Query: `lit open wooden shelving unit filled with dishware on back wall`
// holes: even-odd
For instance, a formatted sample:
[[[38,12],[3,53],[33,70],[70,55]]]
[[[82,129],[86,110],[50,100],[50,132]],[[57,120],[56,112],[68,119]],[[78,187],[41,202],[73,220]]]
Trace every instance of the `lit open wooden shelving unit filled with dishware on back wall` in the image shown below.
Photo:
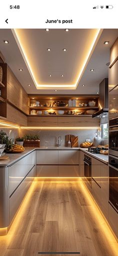
[[[98,95],[28,95],[29,115],[92,115]]]

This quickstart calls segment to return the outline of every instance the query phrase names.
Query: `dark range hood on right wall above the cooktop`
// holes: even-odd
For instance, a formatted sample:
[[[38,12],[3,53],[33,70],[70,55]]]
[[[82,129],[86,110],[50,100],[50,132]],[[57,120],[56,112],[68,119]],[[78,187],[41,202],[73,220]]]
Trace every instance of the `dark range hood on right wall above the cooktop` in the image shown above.
[[[99,84],[99,110],[92,117],[102,117],[108,113],[108,78]]]

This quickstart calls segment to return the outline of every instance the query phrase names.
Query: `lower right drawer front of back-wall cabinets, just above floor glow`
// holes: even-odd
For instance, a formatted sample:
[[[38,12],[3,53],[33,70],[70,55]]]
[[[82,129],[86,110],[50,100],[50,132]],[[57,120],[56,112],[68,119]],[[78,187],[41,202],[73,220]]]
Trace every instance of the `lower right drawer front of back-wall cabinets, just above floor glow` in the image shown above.
[[[77,165],[58,166],[58,177],[78,177]]]

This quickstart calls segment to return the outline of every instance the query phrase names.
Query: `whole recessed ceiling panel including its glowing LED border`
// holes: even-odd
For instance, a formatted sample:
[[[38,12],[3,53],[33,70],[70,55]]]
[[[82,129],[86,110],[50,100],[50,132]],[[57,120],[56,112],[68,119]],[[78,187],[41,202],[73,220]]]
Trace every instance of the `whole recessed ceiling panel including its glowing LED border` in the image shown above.
[[[37,89],[76,89],[102,30],[15,29],[12,33]]]

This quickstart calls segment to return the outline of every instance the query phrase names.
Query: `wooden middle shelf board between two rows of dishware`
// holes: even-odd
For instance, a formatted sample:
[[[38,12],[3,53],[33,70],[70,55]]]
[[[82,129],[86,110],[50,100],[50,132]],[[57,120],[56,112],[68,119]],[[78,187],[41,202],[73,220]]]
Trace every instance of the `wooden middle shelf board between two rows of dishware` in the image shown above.
[[[53,109],[53,110],[59,110],[59,109],[66,109],[66,110],[74,110],[74,109],[78,109],[78,110],[87,110],[87,109],[98,109],[98,107],[68,107],[68,106],[53,106],[53,107],[44,107],[44,106],[29,106],[30,109]]]

